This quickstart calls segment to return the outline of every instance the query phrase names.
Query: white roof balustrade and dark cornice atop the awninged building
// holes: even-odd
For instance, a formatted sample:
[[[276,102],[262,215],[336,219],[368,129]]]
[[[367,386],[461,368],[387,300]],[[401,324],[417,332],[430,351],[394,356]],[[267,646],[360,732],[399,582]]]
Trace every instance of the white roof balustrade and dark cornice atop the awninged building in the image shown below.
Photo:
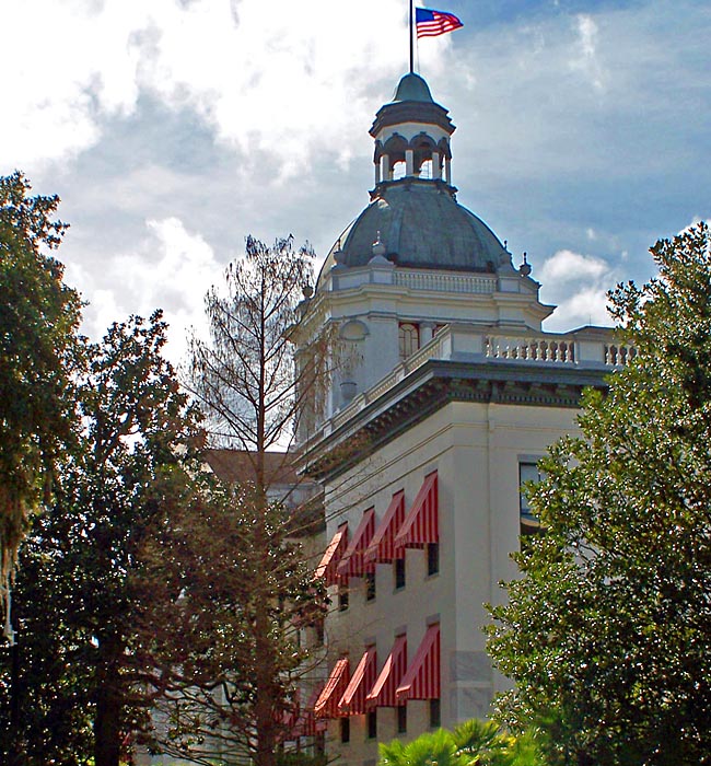
[[[605,390],[607,375],[634,356],[602,327],[557,334],[447,325],[326,419],[302,445],[302,469],[319,481],[340,474],[350,461],[329,455],[347,441],[372,451],[454,401],[578,407],[583,388]]]

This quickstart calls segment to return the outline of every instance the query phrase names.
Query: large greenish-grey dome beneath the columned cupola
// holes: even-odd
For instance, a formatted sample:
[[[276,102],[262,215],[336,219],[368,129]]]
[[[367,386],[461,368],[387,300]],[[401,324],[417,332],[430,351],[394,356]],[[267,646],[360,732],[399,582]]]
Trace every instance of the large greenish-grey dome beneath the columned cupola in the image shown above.
[[[496,234],[457,204],[451,187],[406,178],[377,187],[372,202],[331,248],[322,275],[337,262],[365,266],[378,232],[385,257],[396,266],[496,272],[511,265],[511,255]]]

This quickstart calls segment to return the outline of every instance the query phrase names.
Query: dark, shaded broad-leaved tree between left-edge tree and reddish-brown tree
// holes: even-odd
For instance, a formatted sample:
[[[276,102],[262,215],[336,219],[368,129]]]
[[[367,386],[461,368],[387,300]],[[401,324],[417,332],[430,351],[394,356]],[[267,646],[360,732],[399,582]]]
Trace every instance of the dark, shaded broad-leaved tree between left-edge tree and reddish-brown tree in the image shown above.
[[[150,728],[172,678],[151,662],[135,617],[151,592],[137,587],[142,542],[188,494],[200,441],[164,343],[156,312],[86,346],[80,439],[18,574],[21,715],[0,727],[0,742],[13,754],[21,743],[27,764],[118,766],[127,735]]]

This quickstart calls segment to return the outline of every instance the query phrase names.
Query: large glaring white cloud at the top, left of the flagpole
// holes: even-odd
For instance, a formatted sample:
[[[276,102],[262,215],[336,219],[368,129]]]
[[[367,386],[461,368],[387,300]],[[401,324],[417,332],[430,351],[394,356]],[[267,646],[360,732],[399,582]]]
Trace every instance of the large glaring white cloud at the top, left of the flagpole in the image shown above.
[[[381,78],[392,88],[406,60],[406,46],[393,45],[407,39],[395,0],[34,0],[4,3],[0,26],[33,30],[31,51],[23,34],[4,39],[14,116],[2,127],[5,166],[75,155],[100,139],[102,118],[130,114],[141,90],[194,108],[254,165],[268,152],[282,177],[325,153],[347,163],[372,116],[366,91]]]

